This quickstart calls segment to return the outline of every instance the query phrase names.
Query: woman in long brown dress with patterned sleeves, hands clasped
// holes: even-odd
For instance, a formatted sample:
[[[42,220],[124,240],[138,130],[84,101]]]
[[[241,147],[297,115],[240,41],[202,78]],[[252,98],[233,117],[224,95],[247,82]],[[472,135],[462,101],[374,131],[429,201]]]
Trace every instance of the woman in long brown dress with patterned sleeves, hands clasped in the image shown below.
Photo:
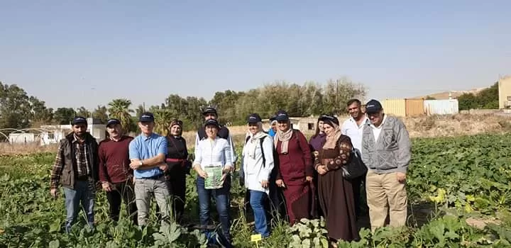
[[[326,142],[315,153],[314,169],[319,174],[319,205],[325,220],[328,237],[336,247],[339,239],[358,240],[355,198],[351,181],[344,179],[341,167],[351,162],[353,145],[348,136],[341,134],[339,120],[335,116],[322,116]]]

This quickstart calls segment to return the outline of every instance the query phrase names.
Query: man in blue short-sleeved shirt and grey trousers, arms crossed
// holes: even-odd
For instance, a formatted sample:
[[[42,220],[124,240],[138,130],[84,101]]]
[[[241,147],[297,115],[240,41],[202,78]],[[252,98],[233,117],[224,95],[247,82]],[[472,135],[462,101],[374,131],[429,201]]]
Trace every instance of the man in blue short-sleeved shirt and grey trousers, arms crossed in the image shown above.
[[[162,212],[163,221],[170,218],[170,198],[163,171],[167,169],[167,139],[153,133],[155,123],[153,113],[142,113],[138,121],[141,135],[129,145],[130,167],[135,176],[135,198],[138,208],[138,225],[147,225],[150,198],[154,194]]]

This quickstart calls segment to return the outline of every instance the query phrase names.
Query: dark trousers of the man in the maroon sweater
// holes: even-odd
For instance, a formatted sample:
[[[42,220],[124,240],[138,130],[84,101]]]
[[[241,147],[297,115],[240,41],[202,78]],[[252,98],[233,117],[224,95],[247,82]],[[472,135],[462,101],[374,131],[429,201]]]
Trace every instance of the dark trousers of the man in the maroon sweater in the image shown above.
[[[110,205],[110,218],[112,220],[119,221],[121,202],[124,201],[128,216],[130,216],[133,224],[138,225],[135,191],[133,190],[133,184],[131,184],[131,182],[125,181],[114,184],[114,189],[110,192],[106,192],[106,199]]]

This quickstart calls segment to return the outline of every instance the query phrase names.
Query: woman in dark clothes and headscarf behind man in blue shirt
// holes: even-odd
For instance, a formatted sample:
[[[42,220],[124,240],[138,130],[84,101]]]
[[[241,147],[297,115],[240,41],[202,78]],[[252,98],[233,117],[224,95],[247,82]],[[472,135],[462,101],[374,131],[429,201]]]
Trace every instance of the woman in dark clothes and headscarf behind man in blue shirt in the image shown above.
[[[172,210],[179,222],[185,211],[186,175],[189,174],[191,163],[188,161],[187,144],[182,137],[182,121],[172,120],[167,128],[167,187],[172,197]]]

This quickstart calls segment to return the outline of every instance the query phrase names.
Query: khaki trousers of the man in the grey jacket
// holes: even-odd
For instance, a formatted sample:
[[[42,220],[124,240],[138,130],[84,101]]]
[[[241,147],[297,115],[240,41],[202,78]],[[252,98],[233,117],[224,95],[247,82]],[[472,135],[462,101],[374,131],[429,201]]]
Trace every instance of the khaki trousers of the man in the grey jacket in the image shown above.
[[[390,226],[400,227],[407,220],[407,191],[404,183],[396,179],[396,173],[378,174],[369,169],[366,176],[366,194],[371,230],[383,227],[387,215]]]

